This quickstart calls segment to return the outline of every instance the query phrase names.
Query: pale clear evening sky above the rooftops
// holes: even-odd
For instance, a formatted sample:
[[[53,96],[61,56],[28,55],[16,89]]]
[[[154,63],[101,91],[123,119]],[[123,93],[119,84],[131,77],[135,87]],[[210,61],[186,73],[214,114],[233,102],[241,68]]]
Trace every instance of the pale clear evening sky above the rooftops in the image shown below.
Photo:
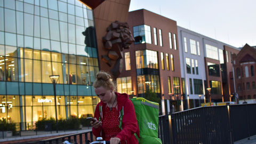
[[[256,46],[255,0],[131,0],[129,11],[145,9],[177,25],[235,47]]]

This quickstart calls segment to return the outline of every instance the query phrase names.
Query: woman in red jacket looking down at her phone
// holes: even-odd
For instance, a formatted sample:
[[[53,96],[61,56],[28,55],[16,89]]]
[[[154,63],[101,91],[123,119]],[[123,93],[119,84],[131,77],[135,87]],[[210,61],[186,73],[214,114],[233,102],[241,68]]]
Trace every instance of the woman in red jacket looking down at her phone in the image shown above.
[[[100,71],[93,83],[95,94],[101,101],[95,109],[94,119],[97,121],[91,121],[92,133],[110,144],[138,144],[134,133],[139,135],[139,127],[132,101],[126,93],[114,92],[116,86],[110,78],[108,73]],[[124,113],[122,130],[119,128],[121,109]]]

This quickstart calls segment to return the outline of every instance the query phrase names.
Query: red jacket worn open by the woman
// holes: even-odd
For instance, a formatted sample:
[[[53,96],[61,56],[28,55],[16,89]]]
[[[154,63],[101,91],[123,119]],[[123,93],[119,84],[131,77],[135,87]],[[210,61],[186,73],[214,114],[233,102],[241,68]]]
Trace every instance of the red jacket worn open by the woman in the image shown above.
[[[129,95],[126,93],[117,93],[116,94],[116,100],[117,100],[117,111],[119,111],[119,117],[120,117],[120,110],[123,109],[124,116],[122,120],[122,128],[123,130],[119,132],[116,137],[119,138],[121,141],[126,141],[126,143],[129,144],[138,144],[138,140],[135,137],[134,133],[139,136],[139,126],[137,122],[137,118],[135,115],[135,110],[133,107],[132,101],[129,99]],[[101,114],[99,107],[101,106]],[[95,109],[94,117],[96,117],[102,123],[104,123],[104,116],[105,116],[105,110],[106,110],[106,103],[103,103],[100,101]],[[120,118],[119,118],[120,120]],[[105,133],[102,131],[102,127],[99,126],[98,129],[94,129],[92,127],[92,133],[95,135],[95,137],[102,137],[103,140],[105,139]]]

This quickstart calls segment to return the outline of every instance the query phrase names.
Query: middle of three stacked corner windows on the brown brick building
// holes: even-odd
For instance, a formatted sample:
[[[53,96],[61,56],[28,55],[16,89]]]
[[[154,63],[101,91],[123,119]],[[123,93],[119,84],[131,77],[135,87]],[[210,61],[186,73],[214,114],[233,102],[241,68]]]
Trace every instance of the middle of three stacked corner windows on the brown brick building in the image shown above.
[[[157,52],[150,50],[135,51],[136,68],[158,69]]]

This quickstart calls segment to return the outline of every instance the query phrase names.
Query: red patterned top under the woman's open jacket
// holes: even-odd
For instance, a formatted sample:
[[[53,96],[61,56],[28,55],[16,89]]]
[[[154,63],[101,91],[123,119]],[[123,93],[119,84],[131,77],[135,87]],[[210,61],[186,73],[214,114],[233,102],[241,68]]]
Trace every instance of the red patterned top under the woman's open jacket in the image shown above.
[[[121,129],[119,128],[119,113],[117,112],[116,107],[113,107],[110,111],[110,108],[107,106],[104,122],[102,123],[102,129],[106,134],[106,141],[109,141],[111,138],[116,137],[116,135],[121,132]],[[125,141],[121,142],[121,144],[126,143]]]

